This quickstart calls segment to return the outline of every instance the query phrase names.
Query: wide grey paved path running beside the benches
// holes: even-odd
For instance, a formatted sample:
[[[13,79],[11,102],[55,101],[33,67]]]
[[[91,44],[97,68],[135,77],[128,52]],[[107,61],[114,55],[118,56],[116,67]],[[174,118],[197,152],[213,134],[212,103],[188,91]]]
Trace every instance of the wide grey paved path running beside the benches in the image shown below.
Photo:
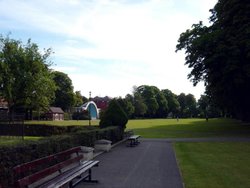
[[[171,143],[144,140],[136,147],[122,143],[95,158],[98,184],[82,182],[77,188],[182,188]]]

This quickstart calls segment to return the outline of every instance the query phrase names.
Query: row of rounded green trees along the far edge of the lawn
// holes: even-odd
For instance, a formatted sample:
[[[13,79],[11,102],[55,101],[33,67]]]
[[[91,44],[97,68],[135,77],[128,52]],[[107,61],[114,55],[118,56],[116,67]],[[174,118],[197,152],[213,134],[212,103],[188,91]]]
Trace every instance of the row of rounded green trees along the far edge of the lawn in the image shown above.
[[[129,118],[197,117],[199,112],[192,94],[175,95],[155,86],[134,87],[133,95],[118,99]],[[128,113],[129,112],[129,113]]]

